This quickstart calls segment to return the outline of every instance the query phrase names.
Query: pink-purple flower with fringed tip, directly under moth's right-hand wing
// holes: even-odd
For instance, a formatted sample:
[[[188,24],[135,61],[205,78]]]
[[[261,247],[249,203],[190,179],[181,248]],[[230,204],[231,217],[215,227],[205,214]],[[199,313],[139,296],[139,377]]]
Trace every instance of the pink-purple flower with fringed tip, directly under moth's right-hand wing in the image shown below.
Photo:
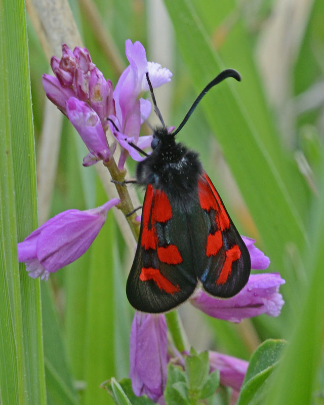
[[[284,300],[278,293],[285,284],[279,273],[251,274],[248,284],[234,297],[220,300],[198,290],[191,304],[214,318],[240,322],[265,313],[278,316]]]

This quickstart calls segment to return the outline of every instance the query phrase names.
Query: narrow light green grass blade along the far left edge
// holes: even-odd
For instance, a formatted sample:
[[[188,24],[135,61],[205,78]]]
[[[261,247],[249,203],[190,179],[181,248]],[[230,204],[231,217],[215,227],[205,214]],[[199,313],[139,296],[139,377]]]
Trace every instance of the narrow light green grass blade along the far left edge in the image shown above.
[[[4,10],[0,6],[0,20],[4,19]],[[0,105],[3,109],[0,114],[0,242],[1,242],[1,273],[0,273],[0,385],[1,402],[18,403],[23,396],[23,384],[18,383],[18,358],[14,335],[14,305],[11,302],[13,291],[12,276],[17,278],[17,255],[14,250],[16,236],[16,209],[14,199],[14,173],[11,147],[10,106],[8,90],[8,72],[5,68],[7,54],[5,49],[5,29],[0,26]],[[4,197],[6,196],[6,197]],[[12,235],[12,237],[8,237]],[[13,240],[12,240],[13,239]],[[17,283],[17,281],[16,281]],[[6,327],[4,327],[6,326]]]

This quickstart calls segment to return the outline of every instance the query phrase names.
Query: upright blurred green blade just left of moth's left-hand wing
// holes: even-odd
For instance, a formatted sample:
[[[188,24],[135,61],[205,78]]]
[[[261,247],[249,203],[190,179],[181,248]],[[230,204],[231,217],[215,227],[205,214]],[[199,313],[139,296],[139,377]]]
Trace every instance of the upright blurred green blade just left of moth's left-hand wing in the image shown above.
[[[98,205],[106,200],[100,188]],[[100,201],[100,202],[99,202]],[[85,330],[85,404],[113,403],[99,385],[115,374],[114,366],[114,221],[110,211],[105,225],[91,247],[88,269]]]

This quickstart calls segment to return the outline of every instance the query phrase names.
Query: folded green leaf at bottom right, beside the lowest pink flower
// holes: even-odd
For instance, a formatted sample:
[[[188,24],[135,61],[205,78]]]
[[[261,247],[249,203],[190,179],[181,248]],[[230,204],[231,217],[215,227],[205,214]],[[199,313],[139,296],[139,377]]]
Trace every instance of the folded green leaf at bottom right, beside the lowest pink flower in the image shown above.
[[[269,339],[253,353],[242,384],[237,405],[262,403],[267,395],[265,382],[280,359],[283,340]]]

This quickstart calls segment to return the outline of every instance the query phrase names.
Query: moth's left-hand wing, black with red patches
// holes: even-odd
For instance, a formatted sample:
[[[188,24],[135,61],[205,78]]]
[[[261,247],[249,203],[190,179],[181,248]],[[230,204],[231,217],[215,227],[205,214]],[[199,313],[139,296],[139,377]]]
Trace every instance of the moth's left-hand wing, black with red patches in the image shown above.
[[[166,312],[194,292],[197,277],[188,218],[174,210],[166,193],[147,186],[134,262],[126,293],[131,305],[142,312]]]

